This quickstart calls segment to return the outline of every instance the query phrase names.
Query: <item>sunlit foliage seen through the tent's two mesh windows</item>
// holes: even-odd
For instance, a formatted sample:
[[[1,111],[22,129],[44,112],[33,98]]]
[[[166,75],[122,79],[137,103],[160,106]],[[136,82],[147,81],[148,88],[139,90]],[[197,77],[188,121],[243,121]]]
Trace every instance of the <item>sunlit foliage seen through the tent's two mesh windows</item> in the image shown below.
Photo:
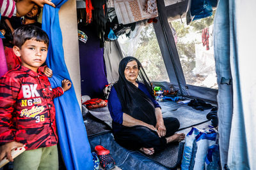
[[[196,41],[196,39],[188,40],[186,36],[189,36],[191,32],[199,32],[205,27],[209,27],[209,25],[213,24],[213,18],[214,15],[193,21],[190,25],[182,24],[180,20],[171,23],[177,32],[178,38],[176,46],[187,83],[195,81],[195,78],[192,78],[193,69],[195,68],[195,43],[200,42]],[[132,55],[138,58],[143,64],[147,76],[151,81],[170,81],[166,67],[164,66],[153,25],[149,24],[144,26],[139,36],[138,46],[136,46],[138,48],[134,49]],[[122,48],[124,50],[129,47],[123,43]],[[191,78],[189,79],[189,77]]]

